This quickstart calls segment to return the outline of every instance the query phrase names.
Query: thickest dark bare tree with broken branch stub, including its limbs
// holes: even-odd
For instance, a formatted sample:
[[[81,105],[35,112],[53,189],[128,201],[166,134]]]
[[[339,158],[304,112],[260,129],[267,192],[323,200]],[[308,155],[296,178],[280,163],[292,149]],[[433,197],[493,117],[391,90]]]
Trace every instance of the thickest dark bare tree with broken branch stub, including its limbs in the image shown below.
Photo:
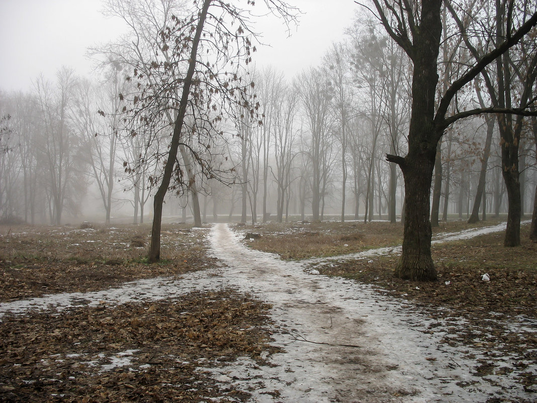
[[[411,4],[372,0],[375,15],[393,40],[401,46],[413,63],[412,109],[406,156],[387,155],[403,172],[405,181],[405,224],[403,252],[395,275],[412,280],[436,280],[431,258],[430,189],[437,144],[447,127],[456,120],[486,112],[526,113],[503,108],[476,108],[448,116],[455,95],[471,83],[498,56],[509,50],[537,23],[537,12],[520,21],[514,29],[508,19],[504,40],[492,46],[454,80],[437,99],[438,67],[442,20],[440,0],[424,0]],[[504,20],[504,19],[502,19]]]

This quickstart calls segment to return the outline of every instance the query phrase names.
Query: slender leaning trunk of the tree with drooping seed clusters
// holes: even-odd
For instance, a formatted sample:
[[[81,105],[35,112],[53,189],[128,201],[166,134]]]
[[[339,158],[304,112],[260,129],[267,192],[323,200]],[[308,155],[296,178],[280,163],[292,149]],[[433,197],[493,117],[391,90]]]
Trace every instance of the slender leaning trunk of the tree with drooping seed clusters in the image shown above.
[[[168,160],[164,167],[164,174],[162,176],[162,183],[158,186],[158,190],[155,194],[153,202],[153,227],[151,228],[151,244],[149,245],[148,260],[153,263],[161,258],[161,226],[162,226],[162,205],[164,203],[164,197],[168,191],[170,185],[171,176],[173,173],[173,167],[177,159],[177,150],[179,148],[179,139],[182,135],[183,121],[185,118],[186,107],[188,103],[188,97],[190,96],[190,87],[192,84],[192,77],[194,76],[195,64],[198,55],[198,45],[201,38],[201,32],[205,24],[205,18],[207,17],[207,11],[212,0],[205,0],[203,7],[199,14],[198,25],[194,39],[192,41],[192,51],[190,54],[190,63],[188,65],[188,71],[185,76],[183,93],[179,103],[179,113],[175,121],[175,127],[173,127],[173,136],[170,143],[170,151],[168,153]],[[198,206],[199,207],[199,206]]]

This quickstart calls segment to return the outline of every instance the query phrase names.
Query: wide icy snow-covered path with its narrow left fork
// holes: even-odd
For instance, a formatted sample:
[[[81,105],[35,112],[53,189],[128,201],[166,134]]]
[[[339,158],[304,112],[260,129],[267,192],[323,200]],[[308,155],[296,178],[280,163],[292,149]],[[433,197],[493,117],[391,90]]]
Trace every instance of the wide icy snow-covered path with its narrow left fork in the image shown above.
[[[260,367],[244,358],[229,367],[204,370],[213,371],[222,387],[231,383],[237,389],[253,388],[255,402],[471,402],[485,401],[498,391],[471,375],[475,360],[464,359],[439,342],[445,333],[420,332],[429,319],[405,307],[404,301],[382,297],[351,280],[307,275],[302,262],[284,262],[245,247],[226,224],[213,227],[211,241],[212,253],[227,268],[179,279],[142,280],[99,292],[13,301],[0,304],[0,315],[96,305],[101,300],[121,304],[177,298],[192,289],[233,286],[273,305],[272,318],[282,330],[274,334],[275,343],[285,352],[269,357],[275,366]],[[301,336],[317,343],[359,347],[294,340]],[[456,385],[474,381],[466,388]],[[509,379],[503,382],[513,384]],[[274,391],[278,397],[273,397]],[[524,395],[516,387],[511,392]]]

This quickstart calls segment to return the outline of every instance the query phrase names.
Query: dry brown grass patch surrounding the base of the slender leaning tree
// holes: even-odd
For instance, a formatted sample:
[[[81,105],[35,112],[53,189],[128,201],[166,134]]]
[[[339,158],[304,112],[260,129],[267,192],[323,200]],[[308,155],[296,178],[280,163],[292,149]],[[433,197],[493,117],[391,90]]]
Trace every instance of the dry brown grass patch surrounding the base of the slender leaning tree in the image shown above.
[[[95,291],[217,265],[207,256],[208,228],[184,225],[163,226],[161,262],[147,264],[150,232],[150,225],[0,227],[0,300]]]

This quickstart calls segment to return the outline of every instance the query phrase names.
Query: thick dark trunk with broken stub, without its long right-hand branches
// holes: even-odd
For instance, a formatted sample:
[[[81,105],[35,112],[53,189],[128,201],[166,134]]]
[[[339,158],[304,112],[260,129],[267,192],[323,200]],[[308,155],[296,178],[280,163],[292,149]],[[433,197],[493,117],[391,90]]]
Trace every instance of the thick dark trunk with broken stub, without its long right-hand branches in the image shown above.
[[[422,26],[412,47],[412,107],[408,154],[388,155],[397,163],[405,183],[403,251],[394,275],[398,278],[433,281],[437,279],[431,257],[431,183],[438,141],[444,128],[434,123],[438,73],[437,58],[442,23],[441,0],[422,3]],[[423,30],[423,33],[421,33]]]

